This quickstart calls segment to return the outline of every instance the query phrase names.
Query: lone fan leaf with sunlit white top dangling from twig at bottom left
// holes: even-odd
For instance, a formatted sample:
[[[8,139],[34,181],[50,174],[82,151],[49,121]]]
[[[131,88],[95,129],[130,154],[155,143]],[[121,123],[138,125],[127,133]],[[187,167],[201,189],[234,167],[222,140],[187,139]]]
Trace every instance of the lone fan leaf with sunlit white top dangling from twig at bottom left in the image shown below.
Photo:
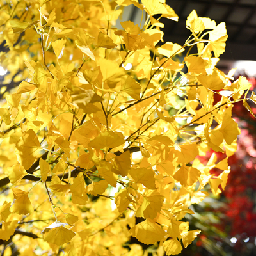
[[[61,246],[68,243],[74,236],[76,236],[75,232],[61,225],[47,232],[44,236],[44,241]]]

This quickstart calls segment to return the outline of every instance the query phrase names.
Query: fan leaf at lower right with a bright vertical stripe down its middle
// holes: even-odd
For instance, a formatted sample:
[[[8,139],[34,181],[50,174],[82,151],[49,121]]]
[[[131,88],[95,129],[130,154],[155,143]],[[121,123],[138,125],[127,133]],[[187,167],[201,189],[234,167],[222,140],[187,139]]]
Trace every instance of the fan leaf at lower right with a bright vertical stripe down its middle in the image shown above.
[[[183,164],[175,175],[173,175],[173,178],[178,180],[183,186],[191,186],[199,179],[200,174],[201,172],[196,168]]]

